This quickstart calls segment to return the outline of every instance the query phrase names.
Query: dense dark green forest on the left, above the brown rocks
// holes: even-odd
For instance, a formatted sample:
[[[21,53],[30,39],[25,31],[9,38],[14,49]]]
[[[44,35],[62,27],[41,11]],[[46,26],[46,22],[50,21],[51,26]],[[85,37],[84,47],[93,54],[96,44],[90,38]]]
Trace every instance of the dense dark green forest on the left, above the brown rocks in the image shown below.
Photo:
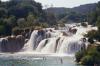
[[[21,29],[47,27],[48,24],[54,25],[55,21],[54,15],[46,14],[42,5],[34,0],[0,1],[0,36]]]

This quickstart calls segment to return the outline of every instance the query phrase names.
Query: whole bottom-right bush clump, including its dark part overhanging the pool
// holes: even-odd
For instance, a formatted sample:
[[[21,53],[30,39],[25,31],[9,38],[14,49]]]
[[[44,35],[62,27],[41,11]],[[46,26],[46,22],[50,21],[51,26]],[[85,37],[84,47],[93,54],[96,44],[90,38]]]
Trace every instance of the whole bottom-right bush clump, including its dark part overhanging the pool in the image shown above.
[[[83,65],[91,65],[100,64],[100,52],[98,51],[98,47],[94,44],[90,45],[86,52],[78,52],[76,55],[76,60],[81,62]]]

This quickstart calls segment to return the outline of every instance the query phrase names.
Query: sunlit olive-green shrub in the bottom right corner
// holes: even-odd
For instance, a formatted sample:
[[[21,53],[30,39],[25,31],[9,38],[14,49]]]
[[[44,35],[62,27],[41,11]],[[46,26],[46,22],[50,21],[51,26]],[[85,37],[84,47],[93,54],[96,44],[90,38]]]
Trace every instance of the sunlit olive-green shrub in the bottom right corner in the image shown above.
[[[100,52],[98,51],[98,48],[95,47],[95,45],[91,45],[88,47],[87,54],[82,57],[80,60],[83,65],[94,65],[100,64]]]

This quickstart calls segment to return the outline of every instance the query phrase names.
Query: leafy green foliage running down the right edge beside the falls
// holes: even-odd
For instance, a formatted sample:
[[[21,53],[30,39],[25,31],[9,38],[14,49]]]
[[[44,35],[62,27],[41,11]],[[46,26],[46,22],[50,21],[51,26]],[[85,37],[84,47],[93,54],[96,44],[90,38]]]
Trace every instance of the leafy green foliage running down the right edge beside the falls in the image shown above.
[[[91,30],[85,35],[85,37],[88,38],[90,45],[88,46],[85,55],[82,58],[79,58],[78,62],[81,62],[83,65],[98,66],[100,65],[100,45],[94,43],[94,40],[100,42],[100,2],[97,3],[96,10],[88,15],[88,22],[92,25],[96,25],[98,30]],[[81,56],[79,53],[77,54]],[[82,53],[84,54],[84,52]]]

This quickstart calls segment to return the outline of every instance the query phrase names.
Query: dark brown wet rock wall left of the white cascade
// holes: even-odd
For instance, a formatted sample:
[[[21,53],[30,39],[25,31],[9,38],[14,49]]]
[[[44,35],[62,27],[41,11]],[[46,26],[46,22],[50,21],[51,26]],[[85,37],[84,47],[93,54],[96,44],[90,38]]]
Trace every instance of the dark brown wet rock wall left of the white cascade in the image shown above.
[[[22,35],[8,36],[1,41],[2,52],[18,52],[25,44],[25,38]]]

